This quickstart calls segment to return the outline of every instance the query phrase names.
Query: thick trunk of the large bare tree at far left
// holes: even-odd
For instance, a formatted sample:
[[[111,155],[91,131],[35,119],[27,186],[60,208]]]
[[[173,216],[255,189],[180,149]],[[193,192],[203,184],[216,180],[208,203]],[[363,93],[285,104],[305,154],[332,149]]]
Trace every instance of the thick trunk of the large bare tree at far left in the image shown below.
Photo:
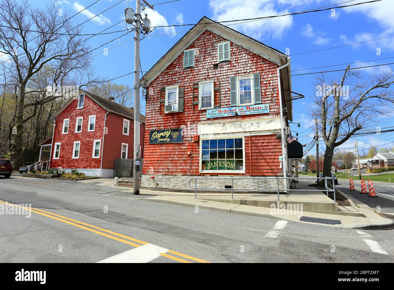
[[[25,98],[25,86],[20,86],[19,100],[17,114],[15,116],[15,125],[11,132],[11,152],[10,159],[14,170],[18,170],[19,167],[24,165],[23,160],[23,111],[24,111],[24,98]]]

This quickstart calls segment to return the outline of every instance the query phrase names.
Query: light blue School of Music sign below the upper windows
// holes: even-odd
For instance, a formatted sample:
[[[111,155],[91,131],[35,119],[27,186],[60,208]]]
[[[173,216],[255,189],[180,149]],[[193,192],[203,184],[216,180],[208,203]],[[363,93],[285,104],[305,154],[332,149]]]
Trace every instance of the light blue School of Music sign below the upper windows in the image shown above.
[[[269,113],[268,104],[247,105],[243,107],[230,107],[206,110],[206,118],[232,117],[251,114]]]

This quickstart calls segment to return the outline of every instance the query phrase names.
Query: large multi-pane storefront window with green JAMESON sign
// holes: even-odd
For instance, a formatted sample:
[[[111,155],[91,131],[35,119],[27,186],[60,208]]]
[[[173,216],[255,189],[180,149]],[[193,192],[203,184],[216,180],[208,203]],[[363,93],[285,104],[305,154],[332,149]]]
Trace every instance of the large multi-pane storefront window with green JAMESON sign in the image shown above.
[[[243,139],[201,140],[201,170],[243,170]]]

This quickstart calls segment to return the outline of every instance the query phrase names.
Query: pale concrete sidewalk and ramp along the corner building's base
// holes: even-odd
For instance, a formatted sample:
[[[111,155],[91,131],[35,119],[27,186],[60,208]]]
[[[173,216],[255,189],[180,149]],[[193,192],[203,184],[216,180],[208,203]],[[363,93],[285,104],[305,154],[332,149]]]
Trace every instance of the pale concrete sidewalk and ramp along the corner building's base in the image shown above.
[[[120,191],[132,193],[132,189],[130,188],[114,187],[112,178],[100,178],[78,182],[112,187]],[[296,185],[296,189],[315,188],[309,187],[307,181],[300,180]],[[341,228],[364,228],[368,226],[390,225],[393,223],[392,220],[381,217],[371,208],[358,208],[354,203],[352,203],[351,207],[340,206],[338,211],[338,205],[331,200],[331,198],[328,198],[322,193],[322,191],[293,191],[287,195],[280,194],[279,202],[277,201],[276,194],[268,193],[234,193],[233,199],[231,199],[231,192],[214,194],[197,193],[197,198],[194,197],[194,193],[147,189],[141,189],[140,194],[155,195],[142,198],[142,200],[146,202],[159,202],[190,208],[198,207],[201,210],[212,210],[230,214],[266,217],[270,219]]]

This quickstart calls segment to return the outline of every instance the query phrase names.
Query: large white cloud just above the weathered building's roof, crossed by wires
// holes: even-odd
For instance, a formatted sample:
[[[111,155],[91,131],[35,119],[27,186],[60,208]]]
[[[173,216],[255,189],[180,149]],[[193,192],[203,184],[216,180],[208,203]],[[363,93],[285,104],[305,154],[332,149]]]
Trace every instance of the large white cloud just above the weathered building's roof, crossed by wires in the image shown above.
[[[210,0],[209,6],[213,11],[213,19],[216,21],[227,21],[234,19],[248,19],[271,15],[286,14],[288,10],[275,8],[271,0]],[[243,22],[243,21],[241,21]],[[224,25],[234,24],[234,22],[224,22]],[[293,17],[283,16],[273,19],[263,19],[230,25],[244,34],[253,38],[281,38],[283,33],[292,27]]]

